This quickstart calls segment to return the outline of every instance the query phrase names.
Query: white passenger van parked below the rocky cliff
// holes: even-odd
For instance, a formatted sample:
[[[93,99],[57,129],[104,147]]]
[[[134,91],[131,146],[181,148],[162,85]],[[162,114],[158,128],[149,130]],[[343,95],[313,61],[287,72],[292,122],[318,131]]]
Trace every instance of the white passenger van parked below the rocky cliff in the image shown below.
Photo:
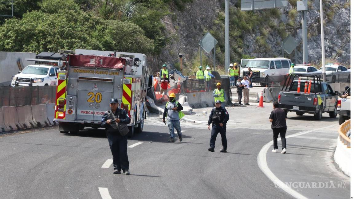
[[[241,59],[241,76],[247,75],[248,67],[253,71],[253,83],[265,84],[265,77],[286,75],[291,65],[290,59],[283,57]]]

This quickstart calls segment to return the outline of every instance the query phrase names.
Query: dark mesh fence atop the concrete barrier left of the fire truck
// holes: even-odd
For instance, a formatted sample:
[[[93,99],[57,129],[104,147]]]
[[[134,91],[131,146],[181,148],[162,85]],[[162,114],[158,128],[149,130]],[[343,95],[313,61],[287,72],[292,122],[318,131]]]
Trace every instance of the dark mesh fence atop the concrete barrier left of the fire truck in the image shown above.
[[[57,86],[1,86],[0,107],[55,103]]]

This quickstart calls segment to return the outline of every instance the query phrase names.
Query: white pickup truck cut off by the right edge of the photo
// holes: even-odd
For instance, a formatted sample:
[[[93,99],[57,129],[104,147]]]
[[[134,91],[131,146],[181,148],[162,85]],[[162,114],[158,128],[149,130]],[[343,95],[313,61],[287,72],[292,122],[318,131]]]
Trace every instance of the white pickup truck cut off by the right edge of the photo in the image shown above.
[[[338,99],[337,113],[339,115],[339,124],[343,124],[344,121],[350,119],[350,87],[346,90],[345,95],[342,95]]]

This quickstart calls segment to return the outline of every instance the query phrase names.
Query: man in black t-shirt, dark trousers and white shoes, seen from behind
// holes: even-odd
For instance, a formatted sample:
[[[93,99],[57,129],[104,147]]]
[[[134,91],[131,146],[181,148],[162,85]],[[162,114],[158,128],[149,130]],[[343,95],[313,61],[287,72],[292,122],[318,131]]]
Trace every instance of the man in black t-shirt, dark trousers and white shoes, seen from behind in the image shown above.
[[[278,136],[281,138],[281,153],[286,153],[286,113],[279,108],[278,102],[273,102],[272,113],[270,113],[269,121],[272,123],[273,130],[273,147],[272,152],[278,152]]]

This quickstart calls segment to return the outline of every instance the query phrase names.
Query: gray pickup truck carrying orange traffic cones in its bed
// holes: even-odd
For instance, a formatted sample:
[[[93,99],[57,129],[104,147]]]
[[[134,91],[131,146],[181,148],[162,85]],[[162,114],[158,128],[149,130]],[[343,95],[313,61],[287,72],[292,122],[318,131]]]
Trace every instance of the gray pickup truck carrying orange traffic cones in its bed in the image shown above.
[[[305,86],[308,87],[310,81],[310,90],[305,92]],[[336,118],[337,101],[338,91],[333,92],[328,83],[321,81],[316,75],[309,74],[289,74],[278,95],[280,109],[286,112],[295,111],[296,115],[314,114],[316,120],[321,120],[324,112],[329,113],[330,118]]]

